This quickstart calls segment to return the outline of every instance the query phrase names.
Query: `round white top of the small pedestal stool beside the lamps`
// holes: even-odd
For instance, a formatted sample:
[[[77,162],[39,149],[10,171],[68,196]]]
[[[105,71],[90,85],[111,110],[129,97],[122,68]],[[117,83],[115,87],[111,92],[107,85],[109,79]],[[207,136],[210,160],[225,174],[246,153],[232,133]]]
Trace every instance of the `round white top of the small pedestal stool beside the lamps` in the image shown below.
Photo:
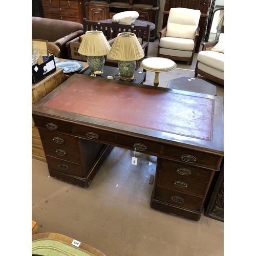
[[[176,63],[167,58],[150,57],[140,62],[140,67],[153,72],[167,72],[176,68]]]

